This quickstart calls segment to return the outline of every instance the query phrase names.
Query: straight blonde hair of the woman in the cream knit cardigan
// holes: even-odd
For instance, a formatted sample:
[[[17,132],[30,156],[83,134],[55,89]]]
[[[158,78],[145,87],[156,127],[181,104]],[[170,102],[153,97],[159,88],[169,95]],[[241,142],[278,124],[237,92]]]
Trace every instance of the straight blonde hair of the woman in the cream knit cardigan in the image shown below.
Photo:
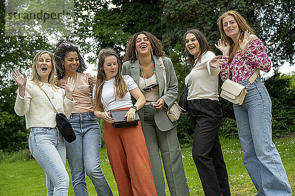
[[[33,81],[41,89],[41,86],[43,85],[43,82],[41,81],[40,75],[38,75],[37,65],[38,65],[38,62],[39,62],[39,59],[40,59],[41,55],[44,54],[44,53],[49,54],[49,56],[51,57],[51,64],[52,64],[52,69],[51,69],[51,71],[50,71],[50,73],[48,75],[48,83],[51,84],[52,87],[57,89],[57,87],[54,85],[54,75],[57,73],[56,62],[55,62],[54,55],[51,52],[40,51],[35,55],[34,60],[33,60],[33,64],[32,64],[32,68],[31,68],[32,69],[32,74],[31,74],[31,77],[30,77],[29,80]],[[42,83],[42,85],[40,85],[40,83]]]

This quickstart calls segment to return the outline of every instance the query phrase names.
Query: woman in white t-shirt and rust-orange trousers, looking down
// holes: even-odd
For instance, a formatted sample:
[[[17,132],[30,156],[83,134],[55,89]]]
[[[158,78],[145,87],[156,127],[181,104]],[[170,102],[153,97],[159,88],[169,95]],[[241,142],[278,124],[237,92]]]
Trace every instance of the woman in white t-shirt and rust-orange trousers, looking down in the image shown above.
[[[114,49],[99,52],[97,81],[94,90],[94,115],[105,121],[105,143],[110,165],[117,182],[119,196],[156,196],[151,166],[141,124],[113,128],[111,110],[128,110],[127,122],[135,120],[135,112],[146,99],[129,75],[121,75],[122,64]],[[131,95],[137,102],[133,105]],[[103,108],[109,110],[102,112]]]

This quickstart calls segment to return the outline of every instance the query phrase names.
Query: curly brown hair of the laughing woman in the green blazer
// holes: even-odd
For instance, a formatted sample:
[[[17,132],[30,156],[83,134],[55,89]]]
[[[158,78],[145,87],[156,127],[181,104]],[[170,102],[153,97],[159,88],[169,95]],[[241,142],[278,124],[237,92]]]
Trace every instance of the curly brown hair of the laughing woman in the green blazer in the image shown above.
[[[148,41],[150,42],[153,55],[155,55],[157,58],[168,57],[165,51],[163,50],[162,42],[158,38],[156,38],[156,36],[154,36],[153,34],[147,31],[141,31],[138,33],[134,33],[133,35],[130,36],[126,46],[126,53],[122,60],[123,63],[126,61],[134,62],[136,59],[138,59],[135,53],[135,44],[136,44],[136,38],[140,34],[144,34],[148,37]]]

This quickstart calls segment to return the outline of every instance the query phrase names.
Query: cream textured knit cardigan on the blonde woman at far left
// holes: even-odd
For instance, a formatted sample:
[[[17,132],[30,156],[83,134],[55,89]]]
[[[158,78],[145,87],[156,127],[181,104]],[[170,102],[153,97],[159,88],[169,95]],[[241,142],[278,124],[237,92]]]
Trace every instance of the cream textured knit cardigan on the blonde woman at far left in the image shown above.
[[[65,91],[55,89],[50,84],[43,83],[41,86],[59,113],[70,117],[75,100],[65,97]],[[17,93],[14,110],[17,115],[26,115],[26,127],[56,127],[56,113],[45,93],[32,81],[27,81],[24,98]]]

